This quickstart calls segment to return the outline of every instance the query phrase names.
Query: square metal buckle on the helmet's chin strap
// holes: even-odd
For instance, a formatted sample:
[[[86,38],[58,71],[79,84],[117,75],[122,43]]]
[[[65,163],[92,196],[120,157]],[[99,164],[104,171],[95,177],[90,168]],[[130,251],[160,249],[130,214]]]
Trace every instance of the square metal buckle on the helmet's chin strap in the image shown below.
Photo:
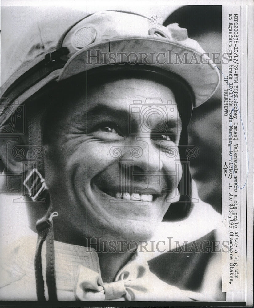
[[[48,189],[45,179],[36,168],[29,173],[24,180],[23,185],[28,190],[29,197],[34,202],[38,201],[38,199],[42,197],[42,193]]]

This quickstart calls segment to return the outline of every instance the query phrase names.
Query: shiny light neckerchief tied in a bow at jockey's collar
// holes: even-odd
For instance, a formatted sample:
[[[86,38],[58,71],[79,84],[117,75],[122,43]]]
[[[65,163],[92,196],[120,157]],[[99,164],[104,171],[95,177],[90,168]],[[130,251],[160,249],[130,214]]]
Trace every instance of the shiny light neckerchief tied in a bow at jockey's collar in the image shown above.
[[[211,301],[200,293],[168,285],[139,258],[124,266],[110,283],[103,283],[100,274],[81,265],[74,292],[80,301]]]

